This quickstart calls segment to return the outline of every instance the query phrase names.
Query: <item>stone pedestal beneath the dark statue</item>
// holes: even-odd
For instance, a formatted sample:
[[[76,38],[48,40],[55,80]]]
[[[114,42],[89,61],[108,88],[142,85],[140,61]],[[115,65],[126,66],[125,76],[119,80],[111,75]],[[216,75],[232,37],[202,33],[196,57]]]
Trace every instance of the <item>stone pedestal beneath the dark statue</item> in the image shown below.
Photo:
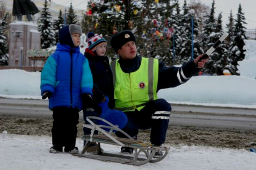
[[[27,52],[40,49],[41,39],[38,26],[32,22],[13,22],[10,24],[9,66],[32,66]]]

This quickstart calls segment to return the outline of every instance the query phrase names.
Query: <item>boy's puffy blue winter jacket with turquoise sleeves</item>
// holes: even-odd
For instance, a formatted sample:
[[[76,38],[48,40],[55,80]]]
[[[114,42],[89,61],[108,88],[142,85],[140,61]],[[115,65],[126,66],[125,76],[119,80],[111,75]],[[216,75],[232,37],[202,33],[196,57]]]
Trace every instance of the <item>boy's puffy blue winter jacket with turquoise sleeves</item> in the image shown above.
[[[92,88],[88,60],[80,53],[79,47],[58,43],[41,73],[41,95],[47,91],[53,94],[49,99],[49,109],[73,107],[81,110],[81,95],[92,95]]]

